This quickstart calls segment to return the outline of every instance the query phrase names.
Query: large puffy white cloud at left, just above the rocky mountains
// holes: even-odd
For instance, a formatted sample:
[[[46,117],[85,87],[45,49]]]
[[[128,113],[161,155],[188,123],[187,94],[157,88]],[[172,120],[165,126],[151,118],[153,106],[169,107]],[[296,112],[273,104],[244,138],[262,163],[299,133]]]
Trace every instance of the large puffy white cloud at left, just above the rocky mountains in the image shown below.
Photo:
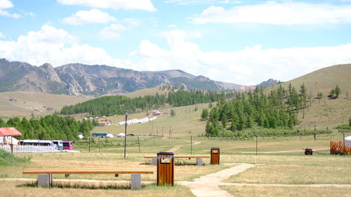
[[[102,48],[79,44],[79,40],[63,29],[44,25],[38,32],[28,32],[16,41],[0,41],[0,57],[8,60],[54,66],[80,62],[84,64],[109,64],[123,67],[124,62],[107,54]]]

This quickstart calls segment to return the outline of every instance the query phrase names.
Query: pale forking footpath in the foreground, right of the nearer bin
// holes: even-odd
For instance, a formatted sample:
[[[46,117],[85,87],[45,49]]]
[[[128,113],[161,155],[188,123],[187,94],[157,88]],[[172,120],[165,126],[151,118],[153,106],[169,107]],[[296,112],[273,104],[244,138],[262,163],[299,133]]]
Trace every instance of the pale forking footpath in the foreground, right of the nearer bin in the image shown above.
[[[221,196],[221,197],[232,197],[230,193],[220,189],[220,182],[224,179],[229,178],[232,175],[237,175],[240,172],[254,167],[255,165],[249,163],[238,163],[232,168],[225,170],[220,170],[219,172],[204,175],[197,179],[194,179],[194,182],[177,182],[190,187],[190,190],[195,196]]]

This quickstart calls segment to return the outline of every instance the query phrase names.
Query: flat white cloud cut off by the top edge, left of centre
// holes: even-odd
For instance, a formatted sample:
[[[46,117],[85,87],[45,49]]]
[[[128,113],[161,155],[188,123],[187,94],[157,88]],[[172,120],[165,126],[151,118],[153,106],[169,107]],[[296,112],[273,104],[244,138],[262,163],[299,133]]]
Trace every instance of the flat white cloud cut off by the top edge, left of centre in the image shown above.
[[[65,5],[88,6],[91,8],[157,11],[151,0],[58,0],[58,2]]]

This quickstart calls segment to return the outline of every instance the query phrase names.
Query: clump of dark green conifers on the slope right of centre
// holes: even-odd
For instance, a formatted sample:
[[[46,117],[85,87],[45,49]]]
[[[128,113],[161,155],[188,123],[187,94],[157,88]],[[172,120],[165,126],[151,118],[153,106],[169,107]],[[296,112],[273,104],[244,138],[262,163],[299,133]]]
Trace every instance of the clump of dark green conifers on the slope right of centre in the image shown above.
[[[220,100],[216,107],[201,113],[201,118],[208,119],[206,136],[216,137],[228,130],[234,134],[255,125],[292,129],[298,123],[298,109],[306,107],[306,92],[304,84],[299,93],[291,84],[288,90],[280,85],[267,94],[256,87],[248,93],[237,93],[231,101]]]

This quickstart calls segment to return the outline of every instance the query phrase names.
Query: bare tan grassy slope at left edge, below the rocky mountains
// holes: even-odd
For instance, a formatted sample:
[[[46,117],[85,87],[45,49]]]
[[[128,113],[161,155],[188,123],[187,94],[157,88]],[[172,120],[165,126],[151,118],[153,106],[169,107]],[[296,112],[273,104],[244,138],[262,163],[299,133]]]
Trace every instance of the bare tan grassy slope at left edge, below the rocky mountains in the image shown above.
[[[0,93],[0,116],[45,116],[60,110],[64,105],[84,102],[88,98],[69,95],[53,95],[36,92],[5,92]],[[46,111],[43,107],[50,107]],[[35,111],[34,109],[38,109]],[[40,112],[42,111],[42,112]]]

